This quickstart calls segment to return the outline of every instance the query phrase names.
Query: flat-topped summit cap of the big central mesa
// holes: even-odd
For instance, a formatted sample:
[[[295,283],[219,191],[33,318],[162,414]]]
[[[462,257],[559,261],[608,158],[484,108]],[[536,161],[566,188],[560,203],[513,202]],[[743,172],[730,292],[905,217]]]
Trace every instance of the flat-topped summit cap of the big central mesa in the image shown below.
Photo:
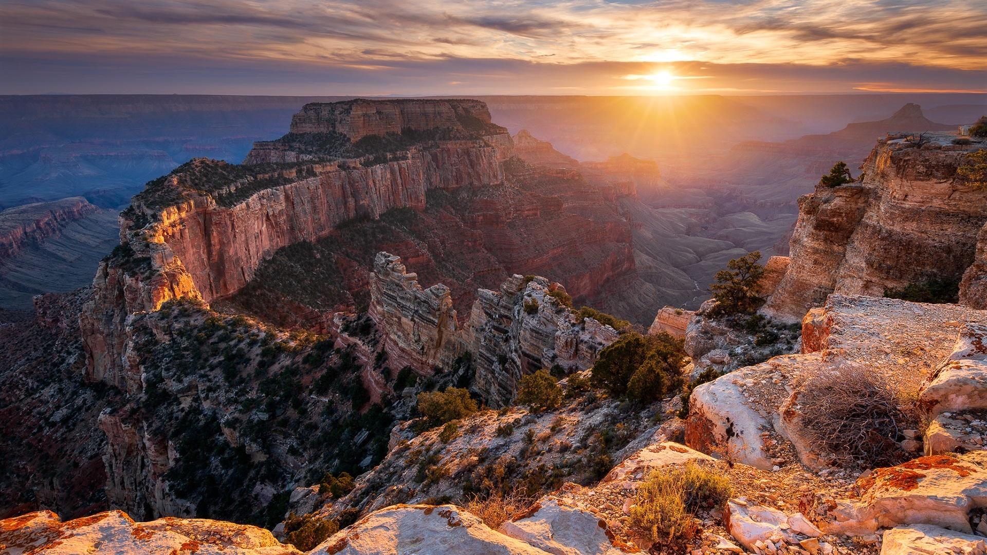
[[[363,100],[312,103],[291,119],[292,133],[338,132],[356,141],[366,135],[435,127],[503,134],[487,104],[476,100]]]

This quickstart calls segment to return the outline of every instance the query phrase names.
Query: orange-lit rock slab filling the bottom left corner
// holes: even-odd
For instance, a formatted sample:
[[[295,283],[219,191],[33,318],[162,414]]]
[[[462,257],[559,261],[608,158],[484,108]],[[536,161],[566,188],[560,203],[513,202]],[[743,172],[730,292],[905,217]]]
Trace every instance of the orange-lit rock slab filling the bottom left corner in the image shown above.
[[[134,522],[121,511],[62,522],[50,511],[0,520],[4,555],[301,555],[257,526],[204,518]]]

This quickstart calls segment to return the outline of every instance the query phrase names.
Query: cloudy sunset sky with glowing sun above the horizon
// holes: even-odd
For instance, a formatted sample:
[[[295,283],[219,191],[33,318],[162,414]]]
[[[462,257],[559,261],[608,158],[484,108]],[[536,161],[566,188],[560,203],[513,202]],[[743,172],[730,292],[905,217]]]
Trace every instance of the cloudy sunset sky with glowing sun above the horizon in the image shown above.
[[[0,94],[987,92],[987,0],[0,0]]]

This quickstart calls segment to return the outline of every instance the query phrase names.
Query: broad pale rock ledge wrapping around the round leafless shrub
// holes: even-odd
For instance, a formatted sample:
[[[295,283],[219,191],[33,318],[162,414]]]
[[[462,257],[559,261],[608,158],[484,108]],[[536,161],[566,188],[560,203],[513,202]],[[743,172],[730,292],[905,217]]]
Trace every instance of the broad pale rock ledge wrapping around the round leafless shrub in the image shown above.
[[[790,445],[805,466],[827,468],[831,454],[820,452],[803,434],[811,423],[800,420],[799,388],[823,372],[858,366],[865,371],[879,364],[896,388],[918,395],[926,376],[937,375],[934,369],[954,350],[964,323],[987,323],[987,312],[954,304],[829,295],[823,309],[805,317],[801,355],[774,357],[693,391],[686,443],[759,468],[778,464],[775,459],[784,459]],[[955,362],[946,366],[950,364]]]

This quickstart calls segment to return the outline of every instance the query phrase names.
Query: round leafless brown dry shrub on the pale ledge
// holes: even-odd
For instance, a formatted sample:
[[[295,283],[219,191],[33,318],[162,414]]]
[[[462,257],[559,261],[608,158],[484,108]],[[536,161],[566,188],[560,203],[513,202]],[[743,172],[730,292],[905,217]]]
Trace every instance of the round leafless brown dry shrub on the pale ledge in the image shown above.
[[[911,458],[897,441],[917,419],[902,403],[882,374],[851,366],[809,378],[798,397],[802,428],[814,446],[868,468]]]

